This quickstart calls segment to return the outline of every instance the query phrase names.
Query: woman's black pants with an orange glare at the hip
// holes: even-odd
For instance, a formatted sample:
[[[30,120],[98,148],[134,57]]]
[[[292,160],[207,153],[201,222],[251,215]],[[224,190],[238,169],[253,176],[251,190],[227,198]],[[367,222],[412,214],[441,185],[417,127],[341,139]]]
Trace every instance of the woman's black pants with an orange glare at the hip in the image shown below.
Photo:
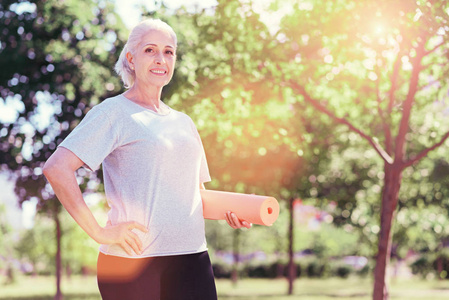
[[[216,300],[207,251],[149,258],[100,253],[97,280],[103,300]]]

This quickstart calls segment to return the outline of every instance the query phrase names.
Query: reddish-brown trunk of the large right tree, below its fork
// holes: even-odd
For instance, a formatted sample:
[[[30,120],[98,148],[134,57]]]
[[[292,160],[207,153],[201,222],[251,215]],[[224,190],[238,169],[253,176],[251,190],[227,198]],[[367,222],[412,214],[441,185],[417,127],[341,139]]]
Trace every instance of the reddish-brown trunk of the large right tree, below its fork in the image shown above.
[[[382,206],[380,214],[379,244],[374,270],[373,300],[388,300],[386,271],[390,263],[392,225],[398,203],[401,186],[402,169],[393,164],[385,165],[385,179],[382,191]]]

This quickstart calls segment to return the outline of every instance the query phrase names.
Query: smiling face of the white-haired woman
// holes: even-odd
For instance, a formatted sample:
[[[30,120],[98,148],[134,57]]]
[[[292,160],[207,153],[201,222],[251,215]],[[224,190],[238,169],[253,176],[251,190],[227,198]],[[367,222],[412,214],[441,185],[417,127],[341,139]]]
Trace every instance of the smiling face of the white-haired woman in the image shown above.
[[[163,30],[150,30],[127,58],[136,74],[135,82],[163,87],[172,76],[176,62],[176,45],[170,34]]]

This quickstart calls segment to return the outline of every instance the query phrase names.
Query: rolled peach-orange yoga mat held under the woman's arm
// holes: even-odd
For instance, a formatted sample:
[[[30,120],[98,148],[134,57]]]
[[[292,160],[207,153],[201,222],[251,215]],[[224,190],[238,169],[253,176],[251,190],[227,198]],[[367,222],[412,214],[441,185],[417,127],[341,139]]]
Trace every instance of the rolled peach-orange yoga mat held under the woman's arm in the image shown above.
[[[279,203],[273,197],[248,195],[213,190],[200,190],[205,219],[224,220],[231,211],[239,219],[271,226],[279,216]]]

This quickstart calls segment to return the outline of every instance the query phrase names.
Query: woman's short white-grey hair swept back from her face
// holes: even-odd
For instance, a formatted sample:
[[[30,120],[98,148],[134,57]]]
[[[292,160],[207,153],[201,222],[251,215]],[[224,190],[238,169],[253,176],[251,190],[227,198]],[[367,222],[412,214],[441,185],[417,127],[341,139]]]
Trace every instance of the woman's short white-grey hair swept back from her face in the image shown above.
[[[176,37],[176,33],[173,30],[173,28],[170,27],[167,23],[164,21],[161,21],[159,19],[147,19],[139,24],[137,24],[129,34],[128,41],[126,42],[125,46],[122,49],[122,52],[120,53],[119,59],[115,63],[115,72],[122,77],[122,81],[125,85],[125,88],[130,88],[134,84],[134,80],[136,78],[136,74],[134,73],[134,70],[131,69],[129,66],[128,60],[126,59],[126,54],[128,52],[131,52],[131,54],[134,54],[134,51],[139,45],[140,41],[142,40],[142,36],[145,35],[150,30],[164,30],[168,32],[173,40],[175,41],[175,46],[178,43],[178,39]]]

